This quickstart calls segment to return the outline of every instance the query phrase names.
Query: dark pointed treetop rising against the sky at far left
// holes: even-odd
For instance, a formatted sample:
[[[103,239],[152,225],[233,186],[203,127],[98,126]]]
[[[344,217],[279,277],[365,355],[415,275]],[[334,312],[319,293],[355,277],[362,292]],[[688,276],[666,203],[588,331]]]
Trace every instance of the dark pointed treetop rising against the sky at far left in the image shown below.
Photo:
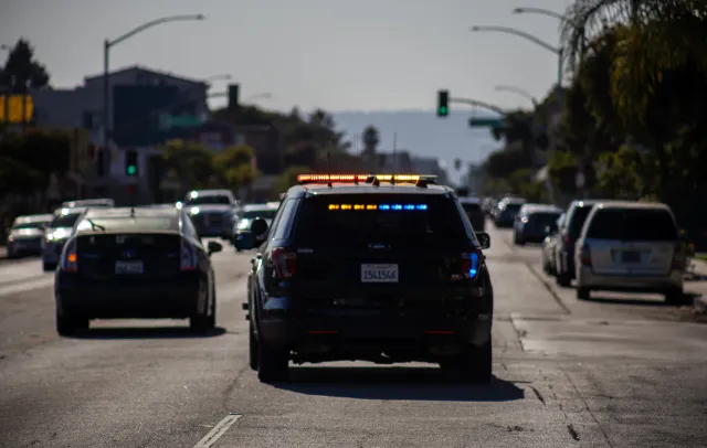
[[[29,41],[20,39],[0,70],[0,85],[14,93],[24,93],[27,87],[45,87],[50,75],[44,65],[34,58],[34,49]]]

